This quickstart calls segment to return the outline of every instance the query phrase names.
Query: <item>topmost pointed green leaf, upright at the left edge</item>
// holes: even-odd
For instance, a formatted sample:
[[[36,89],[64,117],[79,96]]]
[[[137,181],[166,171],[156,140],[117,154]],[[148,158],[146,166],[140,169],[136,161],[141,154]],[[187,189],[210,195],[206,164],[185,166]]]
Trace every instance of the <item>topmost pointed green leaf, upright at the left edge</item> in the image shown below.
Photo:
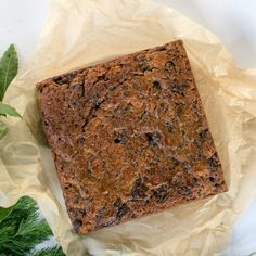
[[[0,59],[0,101],[2,101],[9,85],[16,76],[17,68],[17,53],[14,46],[11,44]]]

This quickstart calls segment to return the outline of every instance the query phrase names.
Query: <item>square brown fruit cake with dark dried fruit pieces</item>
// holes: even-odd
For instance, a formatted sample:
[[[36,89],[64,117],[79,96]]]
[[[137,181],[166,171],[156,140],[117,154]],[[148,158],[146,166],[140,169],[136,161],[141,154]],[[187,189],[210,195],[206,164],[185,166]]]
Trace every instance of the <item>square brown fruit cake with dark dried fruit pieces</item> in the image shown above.
[[[227,190],[180,40],[47,79],[37,97],[80,234]]]

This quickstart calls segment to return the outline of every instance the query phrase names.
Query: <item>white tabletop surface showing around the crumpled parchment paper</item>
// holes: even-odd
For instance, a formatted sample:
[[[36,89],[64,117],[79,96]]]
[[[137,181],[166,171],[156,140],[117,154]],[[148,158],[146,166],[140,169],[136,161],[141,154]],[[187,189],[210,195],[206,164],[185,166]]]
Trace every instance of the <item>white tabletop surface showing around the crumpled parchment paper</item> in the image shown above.
[[[241,68],[256,68],[256,0],[155,0],[204,25],[225,42]],[[49,0],[0,0],[0,55],[14,43],[23,65],[34,51]],[[256,199],[233,228],[222,255],[256,252]]]

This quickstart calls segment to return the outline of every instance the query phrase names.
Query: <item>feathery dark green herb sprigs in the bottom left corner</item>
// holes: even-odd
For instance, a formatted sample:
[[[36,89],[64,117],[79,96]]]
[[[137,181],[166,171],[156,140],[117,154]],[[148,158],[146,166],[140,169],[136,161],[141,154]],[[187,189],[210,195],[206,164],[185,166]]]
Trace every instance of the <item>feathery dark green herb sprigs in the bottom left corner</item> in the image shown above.
[[[60,245],[35,252],[36,245],[51,236],[33,199],[23,196],[9,208],[0,207],[0,256],[64,256]]]

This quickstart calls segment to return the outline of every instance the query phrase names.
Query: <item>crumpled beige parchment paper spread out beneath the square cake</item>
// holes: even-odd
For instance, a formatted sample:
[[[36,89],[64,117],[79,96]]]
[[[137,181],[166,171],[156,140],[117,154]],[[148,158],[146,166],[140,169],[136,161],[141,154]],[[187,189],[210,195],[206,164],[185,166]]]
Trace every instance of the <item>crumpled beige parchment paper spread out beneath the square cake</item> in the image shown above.
[[[229,192],[85,236],[74,234],[40,128],[35,84],[178,38],[191,61]],[[256,71],[239,69],[216,36],[169,8],[145,0],[52,0],[36,51],[5,103],[24,121],[8,119],[10,131],[0,141],[0,205],[33,196],[68,256],[217,255],[256,195]]]

